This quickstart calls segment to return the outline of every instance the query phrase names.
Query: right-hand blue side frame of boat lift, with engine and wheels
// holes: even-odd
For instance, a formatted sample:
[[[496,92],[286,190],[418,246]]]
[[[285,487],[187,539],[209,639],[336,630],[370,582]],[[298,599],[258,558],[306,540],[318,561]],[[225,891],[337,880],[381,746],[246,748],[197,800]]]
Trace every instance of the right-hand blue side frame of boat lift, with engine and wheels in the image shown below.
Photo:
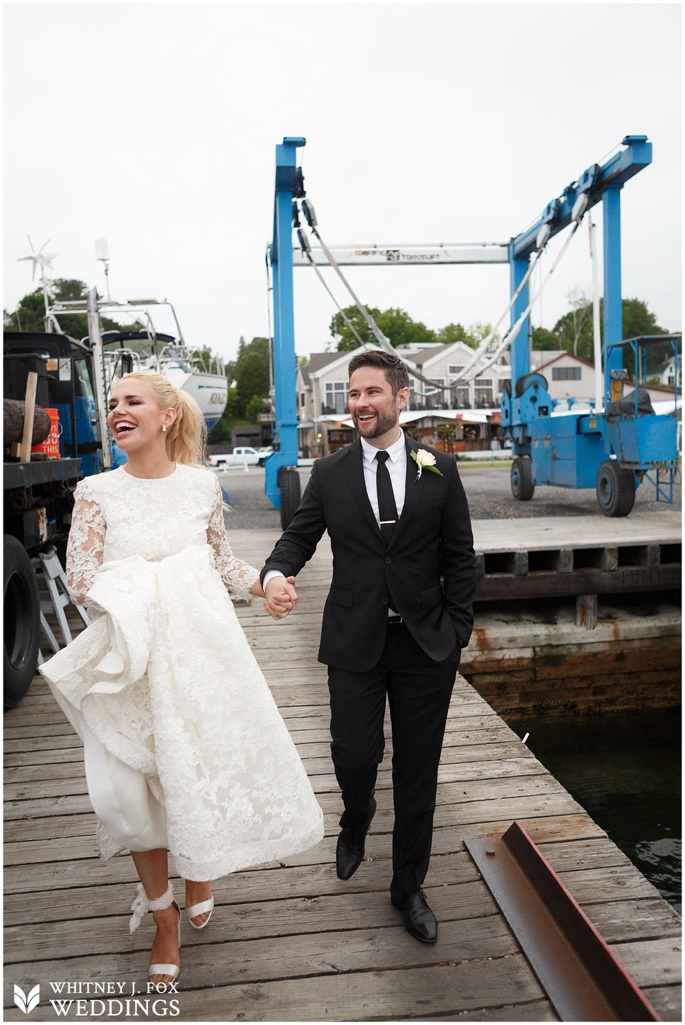
[[[511,294],[514,295],[536,250],[536,239],[548,225],[550,237],[573,219],[575,204],[587,197],[587,207],[602,202],[604,231],[604,409],[590,413],[553,416],[547,381],[530,373],[527,318],[511,346],[511,386],[501,401],[502,425],[513,439],[514,461],[511,490],[514,498],[532,498],[537,484],[597,491],[602,512],[623,517],[633,508],[636,487],[647,477],[656,488],[657,500],[673,501],[674,475],[678,466],[677,385],[678,336],[623,338],[620,292],[620,190],[624,183],[651,163],[651,144],[646,135],[627,135],[625,150],[601,167],[593,164],[576,182],[567,186],[559,199],[547,205],[542,217],[509,245]],[[582,200],[581,200],[582,202]],[[583,204],[585,205],[585,204]],[[528,305],[527,283],[512,308],[512,326]],[[646,347],[671,341],[675,354],[674,415],[656,415],[646,393]],[[624,352],[634,356],[634,387],[624,399],[628,372]],[[640,358],[643,357],[641,360]],[[649,477],[650,473],[655,478]],[[668,481],[668,485],[666,484]]]

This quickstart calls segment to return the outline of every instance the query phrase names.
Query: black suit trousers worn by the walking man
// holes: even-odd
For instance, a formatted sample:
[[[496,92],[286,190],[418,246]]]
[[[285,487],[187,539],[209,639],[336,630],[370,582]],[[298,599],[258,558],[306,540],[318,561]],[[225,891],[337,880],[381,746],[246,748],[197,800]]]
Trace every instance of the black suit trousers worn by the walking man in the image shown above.
[[[405,891],[417,890],[428,871],[437,769],[460,657],[457,645],[447,659],[434,662],[398,623],[388,625],[383,654],[370,671],[329,666],[331,753],[345,806],[342,827],[369,821],[385,749],[387,696],[393,750],[393,880]]]

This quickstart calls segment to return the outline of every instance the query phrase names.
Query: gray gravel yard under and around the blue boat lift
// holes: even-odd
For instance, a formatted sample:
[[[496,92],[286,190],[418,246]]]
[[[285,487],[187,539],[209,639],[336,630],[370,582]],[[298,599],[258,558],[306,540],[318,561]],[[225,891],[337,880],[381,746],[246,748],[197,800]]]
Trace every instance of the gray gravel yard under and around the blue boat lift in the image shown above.
[[[469,466],[460,463],[471,518],[473,520],[513,520],[547,516],[597,516],[604,520],[594,489],[572,491],[567,488],[536,488],[529,502],[517,502],[509,487],[509,466]],[[309,474],[309,466],[299,469],[302,491]],[[228,529],[272,529],[281,527],[281,514],[273,508],[264,494],[264,469],[228,469],[217,474],[221,486],[231,498],[234,511],[226,515]],[[638,488],[632,519],[645,519],[653,512],[670,512],[680,519],[681,485],[675,488],[673,505],[654,500],[655,491],[644,481]]]

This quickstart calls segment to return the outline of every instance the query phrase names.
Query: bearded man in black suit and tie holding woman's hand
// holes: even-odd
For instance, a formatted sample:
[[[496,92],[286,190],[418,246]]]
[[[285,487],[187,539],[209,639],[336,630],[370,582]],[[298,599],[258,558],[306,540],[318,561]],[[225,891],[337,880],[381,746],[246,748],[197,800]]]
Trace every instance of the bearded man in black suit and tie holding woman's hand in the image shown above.
[[[297,604],[284,577],[300,572],[328,530],[333,580],[318,659],[329,666],[331,751],[345,806],[338,876],[350,878],[363,860],[387,695],[395,812],[390,899],[412,936],[434,943],[437,921],[421,887],[447,708],[473,624],[471,523],[454,456],[420,449],[399,426],[410,396],[402,361],[370,351],[348,369],[359,439],[314,463],[266,560],[262,586],[267,611],[283,613],[276,596],[284,590]]]

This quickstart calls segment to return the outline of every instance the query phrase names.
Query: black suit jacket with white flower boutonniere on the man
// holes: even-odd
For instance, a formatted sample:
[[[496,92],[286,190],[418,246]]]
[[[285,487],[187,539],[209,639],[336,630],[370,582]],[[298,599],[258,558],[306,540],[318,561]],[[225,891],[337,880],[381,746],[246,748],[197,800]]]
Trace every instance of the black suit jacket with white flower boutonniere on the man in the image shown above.
[[[454,456],[432,451],[442,476],[417,480],[406,438],[404,505],[389,547],[376,522],[357,440],[317,459],[290,526],[262,570],[300,572],[328,530],[333,579],[324,609],[318,660],[351,672],[377,664],[388,605],[426,655],[441,662],[468,644],[473,626],[475,556],[469,509]]]

